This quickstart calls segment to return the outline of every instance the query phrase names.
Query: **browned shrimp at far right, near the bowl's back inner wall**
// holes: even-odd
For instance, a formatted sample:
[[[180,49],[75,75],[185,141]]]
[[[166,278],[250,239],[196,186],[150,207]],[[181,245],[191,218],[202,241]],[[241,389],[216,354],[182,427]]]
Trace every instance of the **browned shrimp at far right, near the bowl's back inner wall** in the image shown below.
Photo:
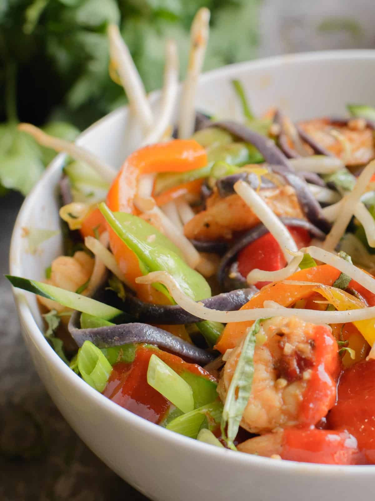
[[[373,130],[361,119],[340,124],[316,118],[300,122],[299,126],[346,165],[366,164],[375,156]]]

